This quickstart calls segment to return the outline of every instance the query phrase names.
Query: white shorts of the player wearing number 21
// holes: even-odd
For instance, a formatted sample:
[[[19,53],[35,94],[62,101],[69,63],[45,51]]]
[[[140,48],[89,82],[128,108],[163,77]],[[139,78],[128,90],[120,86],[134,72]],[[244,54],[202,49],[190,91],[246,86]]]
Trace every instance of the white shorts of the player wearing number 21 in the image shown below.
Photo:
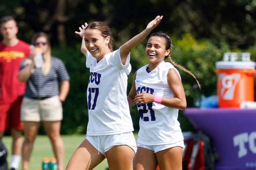
[[[141,143],[137,143],[137,147],[147,148],[148,150],[151,150],[154,153],[166,150],[167,148],[172,148],[172,147],[177,147],[177,146],[182,147],[184,150],[184,148],[185,148],[184,140],[177,141],[176,143],[173,143],[173,144],[164,144],[164,145],[143,145]]]

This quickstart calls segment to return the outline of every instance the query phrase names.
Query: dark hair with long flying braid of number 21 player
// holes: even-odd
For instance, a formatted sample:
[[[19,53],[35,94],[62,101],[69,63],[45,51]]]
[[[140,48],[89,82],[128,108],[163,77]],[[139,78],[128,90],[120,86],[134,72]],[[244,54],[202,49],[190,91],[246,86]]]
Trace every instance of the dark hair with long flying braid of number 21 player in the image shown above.
[[[169,36],[167,36],[167,34],[165,34],[163,32],[156,32],[156,33],[152,33],[150,35],[150,37],[154,37],[154,36],[163,37],[165,39],[165,49],[166,50],[167,49],[171,49],[171,52],[172,52],[172,47],[173,47],[172,39]],[[197,84],[198,84],[199,88],[201,89],[201,86],[200,86],[199,81],[197,80],[197,77],[193,73],[191,73],[190,70],[187,70],[185,67],[180,66],[178,63],[173,61],[172,58],[171,58],[171,52],[168,55],[165,56],[165,59],[168,58],[173,66],[178,67],[179,69],[184,70],[184,72],[186,72],[186,73],[190,74],[192,77],[194,77],[194,79],[196,79],[196,81],[197,81]]]

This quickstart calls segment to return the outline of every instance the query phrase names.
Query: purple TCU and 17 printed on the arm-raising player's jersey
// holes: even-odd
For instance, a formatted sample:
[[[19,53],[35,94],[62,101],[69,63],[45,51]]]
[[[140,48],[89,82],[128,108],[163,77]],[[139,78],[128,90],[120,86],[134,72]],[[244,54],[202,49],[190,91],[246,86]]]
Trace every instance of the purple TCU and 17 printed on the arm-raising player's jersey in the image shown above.
[[[96,72],[90,72],[89,83],[95,83],[96,85],[99,85],[100,77],[102,77],[101,74]],[[93,87],[88,88],[88,109],[89,110],[95,109],[98,96],[99,96],[99,88],[93,88]]]

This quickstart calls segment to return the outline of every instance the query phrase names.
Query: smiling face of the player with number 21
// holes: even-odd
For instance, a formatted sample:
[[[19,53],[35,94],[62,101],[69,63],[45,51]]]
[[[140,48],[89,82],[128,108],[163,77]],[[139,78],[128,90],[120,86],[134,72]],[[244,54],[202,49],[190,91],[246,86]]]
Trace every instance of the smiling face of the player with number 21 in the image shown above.
[[[147,59],[153,66],[158,66],[170,54],[171,49],[166,49],[166,40],[163,37],[152,36],[147,41],[146,46]]]

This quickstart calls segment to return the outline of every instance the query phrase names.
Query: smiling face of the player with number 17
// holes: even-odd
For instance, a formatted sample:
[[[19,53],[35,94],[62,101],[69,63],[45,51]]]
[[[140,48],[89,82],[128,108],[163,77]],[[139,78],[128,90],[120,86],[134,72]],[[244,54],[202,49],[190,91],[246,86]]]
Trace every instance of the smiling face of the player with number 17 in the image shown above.
[[[96,29],[86,29],[84,32],[85,46],[87,50],[98,61],[102,60],[104,55],[110,53],[110,49],[107,46],[110,41],[110,37],[103,37],[102,32]]]

